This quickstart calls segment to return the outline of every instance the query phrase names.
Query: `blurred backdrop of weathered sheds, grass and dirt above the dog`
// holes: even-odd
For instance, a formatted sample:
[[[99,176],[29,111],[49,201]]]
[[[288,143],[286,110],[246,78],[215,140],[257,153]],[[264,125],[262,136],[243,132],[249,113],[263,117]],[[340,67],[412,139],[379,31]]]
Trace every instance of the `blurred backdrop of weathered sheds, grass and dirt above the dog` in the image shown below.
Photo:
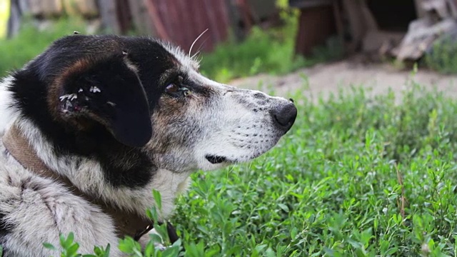
[[[172,41],[223,82],[301,71],[362,84],[413,64],[456,74],[456,19],[457,0],[0,0],[0,74],[74,31]],[[306,70],[316,64],[333,66]],[[440,78],[427,74],[426,82]]]

